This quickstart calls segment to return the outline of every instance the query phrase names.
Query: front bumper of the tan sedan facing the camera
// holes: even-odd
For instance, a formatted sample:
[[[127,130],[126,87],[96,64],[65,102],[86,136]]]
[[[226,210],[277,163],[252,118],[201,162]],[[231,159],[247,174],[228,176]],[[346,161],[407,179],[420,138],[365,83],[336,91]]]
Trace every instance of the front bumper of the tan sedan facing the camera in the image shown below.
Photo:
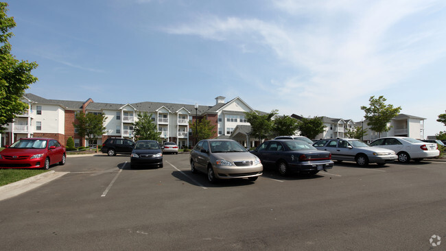
[[[263,165],[259,164],[249,167],[214,165],[213,170],[215,178],[219,179],[250,178],[261,176],[263,174]]]

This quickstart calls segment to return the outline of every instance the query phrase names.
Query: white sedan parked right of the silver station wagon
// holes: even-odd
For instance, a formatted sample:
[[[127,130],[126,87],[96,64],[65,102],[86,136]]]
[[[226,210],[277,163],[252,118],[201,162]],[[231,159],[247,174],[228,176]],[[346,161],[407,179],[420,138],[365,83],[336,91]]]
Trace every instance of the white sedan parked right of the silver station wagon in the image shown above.
[[[440,155],[436,144],[404,136],[379,138],[370,145],[393,150],[401,163],[408,163],[410,159],[420,161],[423,158],[435,158]]]

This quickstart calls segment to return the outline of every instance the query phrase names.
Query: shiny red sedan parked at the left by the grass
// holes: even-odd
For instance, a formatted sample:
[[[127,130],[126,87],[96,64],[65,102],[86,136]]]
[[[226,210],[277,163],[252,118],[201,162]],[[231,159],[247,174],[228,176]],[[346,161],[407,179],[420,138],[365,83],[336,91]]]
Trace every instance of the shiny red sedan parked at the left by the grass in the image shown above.
[[[20,139],[0,152],[0,168],[42,168],[64,165],[66,150],[55,139]]]

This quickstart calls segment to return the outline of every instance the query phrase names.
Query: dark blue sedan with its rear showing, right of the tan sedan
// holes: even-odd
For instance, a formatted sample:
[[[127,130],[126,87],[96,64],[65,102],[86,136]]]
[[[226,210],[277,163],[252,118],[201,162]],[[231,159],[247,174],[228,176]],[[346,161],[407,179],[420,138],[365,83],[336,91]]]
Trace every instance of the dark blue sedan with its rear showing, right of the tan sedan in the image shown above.
[[[252,154],[259,157],[263,167],[274,166],[282,176],[294,173],[317,174],[333,168],[331,154],[317,150],[304,141],[265,141]]]

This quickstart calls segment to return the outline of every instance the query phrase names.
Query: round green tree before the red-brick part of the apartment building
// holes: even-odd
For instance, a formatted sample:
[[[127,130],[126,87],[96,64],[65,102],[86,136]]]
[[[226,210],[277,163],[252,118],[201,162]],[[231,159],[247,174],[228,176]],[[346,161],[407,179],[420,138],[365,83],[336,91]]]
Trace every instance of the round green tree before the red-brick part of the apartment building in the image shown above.
[[[77,123],[73,123],[74,128],[78,130],[78,135],[85,138],[89,142],[89,145],[93,145],[99,136],[105,133],[106,128],[104,126],[105,115],[104,113],[94,114],[79,112],[75,115]]]

